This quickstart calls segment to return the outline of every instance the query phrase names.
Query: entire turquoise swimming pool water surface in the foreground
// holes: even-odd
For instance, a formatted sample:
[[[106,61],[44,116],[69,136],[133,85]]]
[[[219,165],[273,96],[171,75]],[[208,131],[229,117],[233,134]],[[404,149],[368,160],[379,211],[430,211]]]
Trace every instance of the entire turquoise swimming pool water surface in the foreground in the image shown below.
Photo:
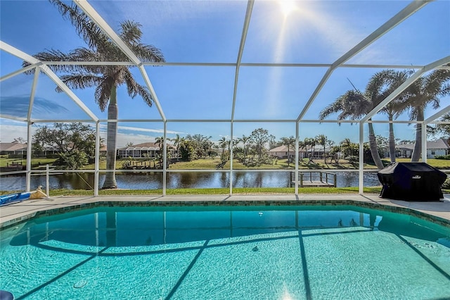
[[[92,208],[0,233],[15,299],[450,298],[449,228],[356,206]]]

